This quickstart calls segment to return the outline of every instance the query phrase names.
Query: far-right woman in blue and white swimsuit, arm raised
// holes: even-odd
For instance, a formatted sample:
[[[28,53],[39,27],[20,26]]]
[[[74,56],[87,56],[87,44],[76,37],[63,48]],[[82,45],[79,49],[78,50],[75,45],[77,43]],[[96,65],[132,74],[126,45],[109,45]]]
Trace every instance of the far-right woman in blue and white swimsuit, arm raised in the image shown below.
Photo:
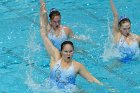
[[[122,54],[121,61],[131,61],[135,55],[139,55],[140,36],[130,32],[131,21],[128,17],[118,17],[113,0],[110,0],[110,5],[114,16],[113,41],[119,52]]]

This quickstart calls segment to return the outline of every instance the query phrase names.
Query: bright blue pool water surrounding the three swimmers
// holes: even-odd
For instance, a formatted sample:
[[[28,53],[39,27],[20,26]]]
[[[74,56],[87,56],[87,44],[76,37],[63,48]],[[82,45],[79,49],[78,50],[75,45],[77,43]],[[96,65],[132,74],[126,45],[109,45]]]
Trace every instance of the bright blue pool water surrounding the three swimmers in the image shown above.
[[[119,14],[131,19],[132,32],[139,35],[140,1],[114,2]],[[76,93],[139,93],[139,59],[112,69],[115,60],[104,60],[111,54],[103,55],[110,50],[109,1],[47,0],[47,7],[59,9],[62,24],[84,39],[73,40],[79,49],[74,59],[107,85],[90,84],[78,76]],[[48,85],[49,57],[39,34],[39,8],[39,0],[0,1],[0,93],[62,93]]]

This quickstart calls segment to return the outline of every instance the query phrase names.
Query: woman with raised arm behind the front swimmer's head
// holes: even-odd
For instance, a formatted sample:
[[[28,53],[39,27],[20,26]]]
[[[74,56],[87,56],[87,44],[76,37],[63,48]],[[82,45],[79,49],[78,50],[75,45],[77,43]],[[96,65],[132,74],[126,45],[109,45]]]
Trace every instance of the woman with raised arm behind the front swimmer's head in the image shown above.
[[[61,25],[61,14],[57,9],[52,8],[50,10],[49,22],[44,0],[40,0],[40,5],[40,18],[47,31],[47,36],[54,46],[60,50],[61,43],[68,40],[69,37],[73,37],[73,32],[69,27]]]

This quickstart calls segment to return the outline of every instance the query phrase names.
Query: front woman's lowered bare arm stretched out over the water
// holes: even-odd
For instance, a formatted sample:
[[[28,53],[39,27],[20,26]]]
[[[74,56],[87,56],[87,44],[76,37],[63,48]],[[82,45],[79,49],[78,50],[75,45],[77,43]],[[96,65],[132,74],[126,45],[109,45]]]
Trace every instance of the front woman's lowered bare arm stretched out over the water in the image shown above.
[[[101,83],[94,76],[92,76],[82,64],[80,64],[79,74],[91,83],[95,82],[99,85],[103,85],[103,83]]]

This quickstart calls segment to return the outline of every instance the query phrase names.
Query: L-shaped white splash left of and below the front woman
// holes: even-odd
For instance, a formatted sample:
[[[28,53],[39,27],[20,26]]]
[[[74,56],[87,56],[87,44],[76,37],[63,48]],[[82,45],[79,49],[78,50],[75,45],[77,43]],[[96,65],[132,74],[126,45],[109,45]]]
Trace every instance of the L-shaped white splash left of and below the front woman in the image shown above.
[[[40,44],[36,43],[37,30],[34,28],[34,24],[31,25],[31,29],[29,32],[29,39],[27,43],[27,48],[25,49],[25,57],[24,59],[28,63],[28,70],[26,71],[26,80],[25,84],[33,93],[80,93],[80,89],[78,89],[75,85],[66,89],[58,89],[57,86],[52,86],[49,79],[47,78],[44,82],[36,81],[35,78],[41,77],[34,75],[34,65],[36,65],[36,53],[41,52]],[[47,73],[48,74],[48,73]],[[38,75],[38,74],[37,74]]]

